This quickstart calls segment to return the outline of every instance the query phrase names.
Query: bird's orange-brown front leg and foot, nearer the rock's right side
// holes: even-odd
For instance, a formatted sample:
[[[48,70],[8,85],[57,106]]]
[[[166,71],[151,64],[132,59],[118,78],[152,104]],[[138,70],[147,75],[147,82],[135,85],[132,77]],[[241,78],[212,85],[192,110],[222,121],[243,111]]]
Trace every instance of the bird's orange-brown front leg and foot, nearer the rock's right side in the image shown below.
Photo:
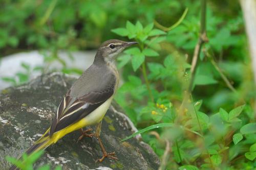
[[[102,162],[104,160],[105,157],[108,157],[108,158],[111,158],[111,159],[115,159],[117,160],[118,158],[117,157],[114,157],[113,155],[115,155],[115,152],[111,152],[111,153],[106,153],[106,150],[103,146],[103,143],[99,137],[100,135],[100,130],[101,130],[101,122],[97,125],[97,128],[96,128],[96,132],[95,132],[95,137],[98,139],[99,141],[99,145],[100,145],[100,148],[102,150],[102,154],[103,156],[100,158],[100,159],[97,159],[96,162]]]

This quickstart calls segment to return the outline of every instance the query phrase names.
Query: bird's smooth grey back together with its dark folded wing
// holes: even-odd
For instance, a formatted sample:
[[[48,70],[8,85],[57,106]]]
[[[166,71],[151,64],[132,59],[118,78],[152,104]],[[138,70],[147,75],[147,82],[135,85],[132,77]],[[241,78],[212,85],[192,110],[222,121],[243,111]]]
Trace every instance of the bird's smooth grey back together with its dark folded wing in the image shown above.
[[[59,104],[49,135],[60,131],[87,116],[115,92],[116,77],[111,71],[101,72],[90,67],[73,84]]]

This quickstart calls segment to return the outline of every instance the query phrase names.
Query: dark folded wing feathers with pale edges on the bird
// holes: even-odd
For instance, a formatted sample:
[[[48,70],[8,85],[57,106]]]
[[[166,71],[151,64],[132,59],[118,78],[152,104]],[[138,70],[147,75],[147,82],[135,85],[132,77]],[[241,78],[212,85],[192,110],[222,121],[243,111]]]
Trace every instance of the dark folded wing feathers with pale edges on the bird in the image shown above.
[[[53,133],[78,122],[108,100],[114,94],[116,80],[111,76],[111,80],[108,81],[109,84],[105,88],[101,87],[98,91],[91,91],[78,98],[72,97],[69,90],[59,104],[49,135],[52,136]]]

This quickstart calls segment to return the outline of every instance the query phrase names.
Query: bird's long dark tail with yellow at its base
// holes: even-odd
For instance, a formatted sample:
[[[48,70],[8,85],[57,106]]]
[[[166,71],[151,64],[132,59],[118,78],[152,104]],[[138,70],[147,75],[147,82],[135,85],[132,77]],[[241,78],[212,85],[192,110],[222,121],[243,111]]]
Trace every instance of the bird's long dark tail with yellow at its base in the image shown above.
[[[47,147],[49,147],[49,145],[51,145],[53,143],[53,141],[51,140],[50,136],[48,135],[49,133],[49,129],[46,131],[46,133],[44,135],[42,135],[40,137],[40,139],[38,139],[27,151],[26,154],[28,156],[30,156],[31,154],[41,151],[41,150],[45,150]],[[21,158],[19,158],[20,160]],[[18,167],[16,167],[15,165],[12,165],[9,170],[19,170]]]

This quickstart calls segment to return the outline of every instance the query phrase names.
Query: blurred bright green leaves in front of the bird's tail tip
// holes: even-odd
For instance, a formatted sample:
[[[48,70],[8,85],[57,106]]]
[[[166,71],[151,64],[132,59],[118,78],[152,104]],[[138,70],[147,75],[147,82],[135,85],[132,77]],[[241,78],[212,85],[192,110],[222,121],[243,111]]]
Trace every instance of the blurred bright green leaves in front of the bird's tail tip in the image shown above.
[[[42,154],[44,154],[44,151],[38,151],[38,152],[32,153],[30,156],[24,153],[21,158],[22,160],[16,160],[16,158],[13,158],[10,156],[7,156],[6,159],[10,163],[16,165],[21,170],[33,170],[33,163],[35,163],[42,156]],[[52,169],[50,168],[50,165],[44,165],[37,168],[37,170],[50,170],[50,169]],[[61,166],[57,166],[54,169],[61,170]]]

